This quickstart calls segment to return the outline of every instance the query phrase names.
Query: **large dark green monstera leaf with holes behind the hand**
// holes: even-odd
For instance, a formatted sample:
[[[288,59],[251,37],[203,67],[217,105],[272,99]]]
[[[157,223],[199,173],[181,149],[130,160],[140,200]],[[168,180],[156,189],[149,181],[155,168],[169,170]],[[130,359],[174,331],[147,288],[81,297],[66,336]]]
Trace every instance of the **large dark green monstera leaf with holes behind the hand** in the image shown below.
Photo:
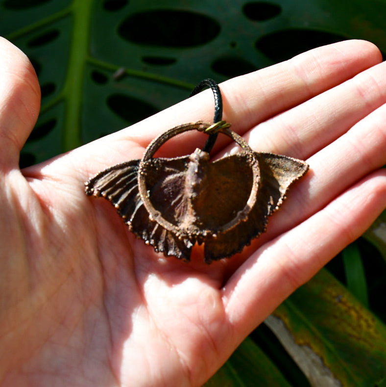
[[[30,57],[43,94],[21,165],[142,120],[203,78],[222,81],[346,38],[386,51],[385,12],[385,3],[359,0],[3,0],[0,34]]]

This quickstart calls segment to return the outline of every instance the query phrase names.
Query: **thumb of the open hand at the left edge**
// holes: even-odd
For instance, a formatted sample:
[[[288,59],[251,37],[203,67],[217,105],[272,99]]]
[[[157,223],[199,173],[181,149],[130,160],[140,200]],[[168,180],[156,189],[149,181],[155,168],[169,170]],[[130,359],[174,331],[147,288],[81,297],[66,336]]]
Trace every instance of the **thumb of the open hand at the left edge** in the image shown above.
[[[40,87],[31,62],[0,37],[0,170],[18,165],[39,109]]]

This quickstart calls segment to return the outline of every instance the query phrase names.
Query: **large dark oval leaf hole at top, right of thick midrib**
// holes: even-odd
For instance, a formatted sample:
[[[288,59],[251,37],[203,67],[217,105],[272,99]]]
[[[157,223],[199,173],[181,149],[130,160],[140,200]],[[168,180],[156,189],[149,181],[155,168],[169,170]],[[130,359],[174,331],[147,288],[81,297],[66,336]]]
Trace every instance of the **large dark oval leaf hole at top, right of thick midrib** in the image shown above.
[[[118,33],[129,42],[162,47],[194,47],[215,39],[220,25],[205,15],[157,10],[126,18]]]

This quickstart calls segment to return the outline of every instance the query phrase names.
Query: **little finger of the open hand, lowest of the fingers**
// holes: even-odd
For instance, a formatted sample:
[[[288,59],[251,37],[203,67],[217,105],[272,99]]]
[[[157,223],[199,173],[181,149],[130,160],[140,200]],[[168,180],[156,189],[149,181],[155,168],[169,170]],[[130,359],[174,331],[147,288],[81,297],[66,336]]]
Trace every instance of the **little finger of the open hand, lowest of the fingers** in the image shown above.
[[[383,170],[256,251],[222,290],[235,332],[246,335],[253,330],[298,286],[358,238],[385,206]]]

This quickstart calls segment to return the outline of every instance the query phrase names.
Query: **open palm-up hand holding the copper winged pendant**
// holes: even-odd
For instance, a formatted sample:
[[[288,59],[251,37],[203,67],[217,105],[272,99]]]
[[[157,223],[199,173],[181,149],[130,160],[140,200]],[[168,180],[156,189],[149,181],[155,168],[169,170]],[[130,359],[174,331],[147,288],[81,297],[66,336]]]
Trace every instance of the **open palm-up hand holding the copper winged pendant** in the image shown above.
[[[298,286],[386,206],[386,63],[346,41],[220,84],[223,118],[255,151],[305,159],[268,231],[231,259],[163,258],[104,199],[98,170],[173,126],[211,121],[210,91],[20,170],[39,111],[35,73],[0,40],[0,384],[200,386]],[[162,155],[202,146],[189,132]],[[214,154],[233,148],[219,136]]]

